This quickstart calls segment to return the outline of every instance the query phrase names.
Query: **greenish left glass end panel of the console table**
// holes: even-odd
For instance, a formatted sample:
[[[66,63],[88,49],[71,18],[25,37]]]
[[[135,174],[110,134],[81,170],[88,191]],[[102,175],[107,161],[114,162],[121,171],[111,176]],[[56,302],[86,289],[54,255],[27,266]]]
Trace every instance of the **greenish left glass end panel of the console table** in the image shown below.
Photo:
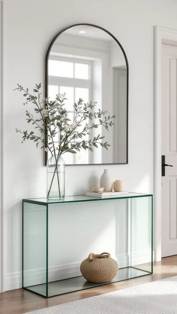
[[[46,296],[46,206],[23,203],[23,287],[42,284]]]

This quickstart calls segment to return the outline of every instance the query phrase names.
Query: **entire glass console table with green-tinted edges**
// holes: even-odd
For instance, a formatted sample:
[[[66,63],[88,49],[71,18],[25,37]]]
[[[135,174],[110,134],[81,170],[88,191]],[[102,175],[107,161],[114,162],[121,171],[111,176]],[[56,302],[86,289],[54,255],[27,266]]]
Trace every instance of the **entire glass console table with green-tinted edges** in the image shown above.
[[[23,199],[23,288],[48,298],[152,273],[152,195]],[[111,282],[80,273],[89,253],[119,264]]]

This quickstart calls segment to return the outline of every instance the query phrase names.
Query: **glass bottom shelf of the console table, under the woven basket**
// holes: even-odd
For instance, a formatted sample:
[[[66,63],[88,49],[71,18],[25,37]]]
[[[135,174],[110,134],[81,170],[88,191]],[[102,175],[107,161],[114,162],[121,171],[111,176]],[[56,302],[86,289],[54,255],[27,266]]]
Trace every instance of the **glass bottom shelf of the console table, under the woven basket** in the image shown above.
[[[134,268],[134,267],[125,267],[125,268],[120,268],[117,276],[113,280],[107,283],[96,284],[96,283],[85,280],[83,276],[79,276],[79,277],[49,282],[48,287],[46,284],[38,284],[31,287],[26,287],[25,289],[33,291],[39,295],[46,296],[47,294],[48,297],[52,297],[55,295],[61,295],[61,294],[66,294],[66,293],[70,293],[74,291],[94,288],[94,287],[102,286],[105,284],[112,284],[118,281],[141,277],[148,274],[151,274],[151,272]],[[47,290],[48,290],[48,293],[47,293]]]

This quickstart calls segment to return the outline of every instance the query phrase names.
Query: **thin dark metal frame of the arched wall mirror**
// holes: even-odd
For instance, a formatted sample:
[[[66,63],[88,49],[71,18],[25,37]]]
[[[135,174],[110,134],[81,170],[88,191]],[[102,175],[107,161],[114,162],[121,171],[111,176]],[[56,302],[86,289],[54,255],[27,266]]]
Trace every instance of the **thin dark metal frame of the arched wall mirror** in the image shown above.
[[[50,54],[50,50],[55,42],[55,40],[65,31],[65,30],[68,30],[69,28],[71,27],[74,27],[74,26],[79,26],[79,25],[88,25],[88,26],[93,26],[93,27],[96,27],[96,28],[99,28],[100,30],[104,30],[107,34],[109,34],[116,42],[117,44],[120,46],[122,52],[123,52],[123,55],[125,57],[125,61],[126,61],[126,66],[127,66],[127,156],[126,156],[126,162],[124,163],[108,163],[108,164],[80,164],[80,165],[125,165],[125,164],[128,164],[128,59],[127,59],[127,56],[126,56],[126,53],[123,49],[123,46],[120,44],[120,42],[117,40],[117,38],[112,35],[108,30],[105,30],[103,27],[100,27],[100,26],[97,26],[97,25],[94,25],[94,24],[87,24],[87,23],[81,23],[81,24],[74,24],[74,25],[71,25],[69,27],[66,27],[64,30],[61,30],[55,37],[54,39],[51,41],[50,45],[49,45],[49,48],[47,50],[47,54],[46,54],[46,58],[45,58],[45,97],[48,97],[48,83],[49,83],[49,80],[48,80],[48,60],[49,60],[49,54]],[[46,130],[46,135],[48,136],[47,134],[47,130]],[[48,153],[45,152],[45,165],[47,165],[47,161],[48,161]],[[73,166],[73,165],[72,165]],[[79,164],[77,165],[79,166]]]

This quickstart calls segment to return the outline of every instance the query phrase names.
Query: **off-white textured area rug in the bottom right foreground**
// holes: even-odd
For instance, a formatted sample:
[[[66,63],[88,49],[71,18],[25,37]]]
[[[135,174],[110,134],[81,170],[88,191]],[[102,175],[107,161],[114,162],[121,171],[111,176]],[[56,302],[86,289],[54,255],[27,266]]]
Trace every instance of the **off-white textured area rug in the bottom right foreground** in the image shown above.
[[[177,276],[28,314],[176,314]]]

